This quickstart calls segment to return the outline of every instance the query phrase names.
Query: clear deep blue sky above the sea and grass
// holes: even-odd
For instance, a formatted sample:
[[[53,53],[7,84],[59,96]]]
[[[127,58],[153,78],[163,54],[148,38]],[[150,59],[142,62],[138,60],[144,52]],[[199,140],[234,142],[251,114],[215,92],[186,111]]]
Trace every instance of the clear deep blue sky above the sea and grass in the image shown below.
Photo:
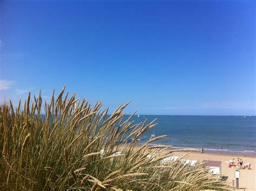
[[[64,85],[126,113],[255,114],[254,1],[1,1],[0,102]]]

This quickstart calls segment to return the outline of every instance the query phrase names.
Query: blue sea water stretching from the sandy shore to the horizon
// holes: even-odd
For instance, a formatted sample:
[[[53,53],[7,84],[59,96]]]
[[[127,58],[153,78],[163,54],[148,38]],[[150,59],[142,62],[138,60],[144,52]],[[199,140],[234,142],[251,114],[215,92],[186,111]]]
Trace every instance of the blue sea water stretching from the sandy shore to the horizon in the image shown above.
[[[242,153],[254,155],[256,149],[256,116],[140,115],[135,122],[152,121],[158,125],[140,137],[140,143],[151,134],[167,135],[153,144],[173,148],[204,148],[205,152]],[[227,149],[228,147],[228,149]]]

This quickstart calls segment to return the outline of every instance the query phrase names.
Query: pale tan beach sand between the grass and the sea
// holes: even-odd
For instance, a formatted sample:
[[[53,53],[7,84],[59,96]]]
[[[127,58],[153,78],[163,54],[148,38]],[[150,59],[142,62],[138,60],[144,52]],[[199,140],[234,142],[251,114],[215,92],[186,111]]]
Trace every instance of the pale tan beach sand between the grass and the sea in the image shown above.
[[[188,152],[175,152],[174,156],[183,156]],[[200,152],[191,152],[186,159],[190,160],[199,160],[202,162],[203,160],[214,160],[221,161],[221,173],[225,176],[228,176],[227,182],[232,185],[232,180],[234,180],[235,186],[235,178],[234,178],[234,169],[229,168],[229,163],[225,161],[230,161],[232,159],[237,160],[237,158],[241,158],[242,161],[250,162],[251,169],[240,169],[240,179],[239,179],[239,188],[246,188],[246,190],[256,190],[256,157],[255,156],[243,156],[239,154],[221,154],[221,153],[200,153]]]

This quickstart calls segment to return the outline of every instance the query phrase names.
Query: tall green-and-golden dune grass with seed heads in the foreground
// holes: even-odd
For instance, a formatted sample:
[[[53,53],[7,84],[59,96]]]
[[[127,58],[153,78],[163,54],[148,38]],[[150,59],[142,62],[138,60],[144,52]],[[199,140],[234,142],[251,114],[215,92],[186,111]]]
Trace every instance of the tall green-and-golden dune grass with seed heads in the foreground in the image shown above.
[[[92,107],[75,94],[64,96],[64,90],[57,99],[53,91],[49,104],[43,105],[41,94],[33,98],[29,94],[23,106],[21,101],[16,108],[11,101],[2,106],[1,190],[231,188],[209,174],[204,164],[161,163],[179,151],[150,146],[164,136],[136,147],[139,137],[156,124],[146,120],[134,124],[133,114],[124,120],[128,103],[107,115],[101,102]]]

